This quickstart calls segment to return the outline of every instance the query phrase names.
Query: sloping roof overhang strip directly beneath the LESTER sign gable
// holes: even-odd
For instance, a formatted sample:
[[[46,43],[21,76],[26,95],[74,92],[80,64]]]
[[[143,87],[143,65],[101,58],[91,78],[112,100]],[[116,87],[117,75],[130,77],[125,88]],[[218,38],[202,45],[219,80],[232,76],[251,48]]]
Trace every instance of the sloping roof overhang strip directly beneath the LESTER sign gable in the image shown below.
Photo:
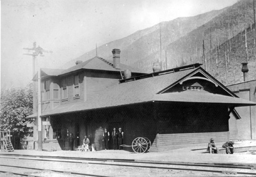
[[[163,93],[154,96],[154,101],[158,102],[186,102],[186,103],[204,103],[204,104],[225,104],[228,107],[242,107],[256,105],[242,98],[233,96],[218,95],[213,93],[200,93],[200,91],[191,93],[189,91]]]

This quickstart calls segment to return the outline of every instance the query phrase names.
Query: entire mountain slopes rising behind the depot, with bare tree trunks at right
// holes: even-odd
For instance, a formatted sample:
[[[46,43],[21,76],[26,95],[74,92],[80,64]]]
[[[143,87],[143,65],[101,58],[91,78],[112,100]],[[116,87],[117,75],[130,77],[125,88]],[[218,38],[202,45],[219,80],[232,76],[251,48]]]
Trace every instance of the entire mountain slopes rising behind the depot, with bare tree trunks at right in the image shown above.
[[[243,0],[222,10],[195,17],[180,17],[137,31],[130,36],[100,46],[98,56],[111,59],[111,50],[120,49],[121,63],[139,67],[145,72],[152,72],[153,63],[160,59],[163,66],[167,61],[167,68],[197,62],[205,63],[206,60],[208,72],[223,84],[233,84],[243,79],[241,63],[244,62],[245,56],[244,29],[248,28],[246,30],[248,32],[251,26],[253,26],[253,1]],[[248,65],[249,70],[252,68],[250,79],[255,78],[256,68],[253,63],[256,52],[254,35],[248,32]],[[225,52],[228,60],[227,79]],[[95,50],[92,50],[79,58],[72,59],[65,66],[72,66],[77,60],[86,61],[94,56]],[[233,59],[234,64],[232,64]],[[237,76],[236,79],[234,76]]]

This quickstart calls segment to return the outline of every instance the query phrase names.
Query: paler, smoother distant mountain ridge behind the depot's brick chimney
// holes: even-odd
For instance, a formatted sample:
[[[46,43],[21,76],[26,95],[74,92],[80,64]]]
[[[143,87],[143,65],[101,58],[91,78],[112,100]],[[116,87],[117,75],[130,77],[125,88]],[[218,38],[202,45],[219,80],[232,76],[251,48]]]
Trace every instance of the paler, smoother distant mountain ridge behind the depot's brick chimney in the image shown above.
[[[187,35],[189,32],[193,31],[197,27],[202,26],[206,22],[209,22],[211,19],[219,15],[223,10],[207,12],[195,17],[182,17],[169,22],[161,22],[155,26],[148,27],[133,33],[130,36],[122,38],[120,40],[115,40],[113,42],[106,43],[98,47],[97,52],[98,56],[106,59],[112,58],[112,49],[121,50],[121,62],[126,65],[131,65],[138,67],[138,61],[147,59],[147,56],[151,56],[147,59],[148,66],[152,68],[152,63],[159,59],[159,32],[161,26],[161,40],[162,40],[162,49],[172,42],[175,42],[182,36]],[[63,66],[63,68],[68,68],[73,66],[77,60],[86,61],[95,56],[95,50],[86,52],[82,56],[72,59]],[[158,54],[158,55],[156,55]],[[147,70],[148,66],[140,66],[141,69]],[[151,72],[148,70],[148,72]]]

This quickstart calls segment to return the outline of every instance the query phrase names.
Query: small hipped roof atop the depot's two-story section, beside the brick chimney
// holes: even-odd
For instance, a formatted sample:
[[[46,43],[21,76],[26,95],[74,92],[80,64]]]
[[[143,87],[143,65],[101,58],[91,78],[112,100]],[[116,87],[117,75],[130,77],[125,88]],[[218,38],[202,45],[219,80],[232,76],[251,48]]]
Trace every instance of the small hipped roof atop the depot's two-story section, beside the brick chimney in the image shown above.
[[[95,56],[95,58],[89,59],[88,61],[84,61],[79,65],[72,66],[67,70],[63,70],[63,72],[61,72],[61,75],[69,72],[74,72],[76,70],[81,70],[81,69],[104,70],[104,71],[111,71],[111,72],[120,72],[120,71],[124,72],[124,70],[129,69],[132,73],[145,73],[139,70],[138,68],[132,68],[131,66],[127,66],[122,63],[120,63],[120,69],[116,69],[112,61]]]

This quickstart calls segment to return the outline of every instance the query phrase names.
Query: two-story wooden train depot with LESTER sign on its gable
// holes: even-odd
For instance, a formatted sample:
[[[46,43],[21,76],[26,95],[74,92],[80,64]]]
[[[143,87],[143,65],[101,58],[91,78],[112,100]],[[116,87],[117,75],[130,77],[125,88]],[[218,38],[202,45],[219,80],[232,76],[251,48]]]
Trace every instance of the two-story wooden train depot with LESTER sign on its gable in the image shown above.
[[[41,70],[43,149],[69,150],[72,133],[74,149],[87,135],[95,150],[102,150],[104,128],[111,134],[119,127],[124,144],[147,137],[150,151],[207,144],[211,138],[224,142],[230,139],[230,114],[240,118],[235,108],[255,105],[236,96],[198,63],[143,73],[122,65],[120,50],[112,52],[113,61],[95,57],[67,70]],[[36,116],[35,112],[29,117]],[[110,139],[110,148],[111,144]]]

